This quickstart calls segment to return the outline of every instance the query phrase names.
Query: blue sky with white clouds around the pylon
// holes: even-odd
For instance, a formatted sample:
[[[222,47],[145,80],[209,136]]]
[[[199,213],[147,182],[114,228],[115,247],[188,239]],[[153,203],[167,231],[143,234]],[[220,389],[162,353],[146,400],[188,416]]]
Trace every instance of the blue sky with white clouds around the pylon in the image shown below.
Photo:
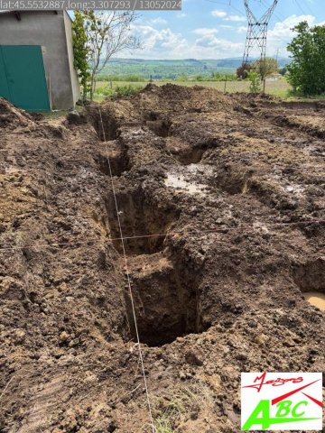
[[[182,11],[144,12],[133,32],[143,50],[124,51],[116,57],[141,59],[225,59],[241,57],[246,40],[243,0],[182,0]],[[229,3],[231,5],[229,5]],[[272,0],[250,0],[255,15],[262,15]],[[267,55],[288,57],[292,27],[301,21],[325,23],[324,0],[279,0],[269,24]],[[254,53],[253,53],[254,55]]]

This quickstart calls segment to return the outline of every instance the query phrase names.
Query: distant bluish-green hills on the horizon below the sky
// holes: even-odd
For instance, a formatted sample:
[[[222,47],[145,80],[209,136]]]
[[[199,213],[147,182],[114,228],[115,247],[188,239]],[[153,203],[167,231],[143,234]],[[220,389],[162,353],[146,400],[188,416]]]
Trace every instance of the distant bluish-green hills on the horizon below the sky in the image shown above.
[[[290,59],[278,60],[280,67],[290,63]],[[154,79],[175,79],[181,76],[203,77],[210,76],[212,72],[224,74],[234,73],[240,66],[242,58],[229,58],[217,60],[144,60],[144,59],[112,59],[101,72],[101,76],[141,76]]]

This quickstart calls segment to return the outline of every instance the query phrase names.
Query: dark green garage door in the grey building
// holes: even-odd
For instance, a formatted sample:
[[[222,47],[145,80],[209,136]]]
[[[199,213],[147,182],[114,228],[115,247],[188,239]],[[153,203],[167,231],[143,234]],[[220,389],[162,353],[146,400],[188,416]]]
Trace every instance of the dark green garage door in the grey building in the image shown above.
[[[0,97],[27,111],[50,110],[39,45],[0,45]]]

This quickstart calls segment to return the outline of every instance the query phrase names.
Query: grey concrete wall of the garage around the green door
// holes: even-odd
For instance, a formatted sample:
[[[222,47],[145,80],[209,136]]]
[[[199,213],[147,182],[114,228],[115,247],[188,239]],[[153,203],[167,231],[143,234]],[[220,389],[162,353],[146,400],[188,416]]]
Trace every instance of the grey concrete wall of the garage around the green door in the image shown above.
[[[70,109],[79,99],[73,68],[72,31],[66,12],[24,11],[0,14],[1,45],[41,45],[52,109]]]

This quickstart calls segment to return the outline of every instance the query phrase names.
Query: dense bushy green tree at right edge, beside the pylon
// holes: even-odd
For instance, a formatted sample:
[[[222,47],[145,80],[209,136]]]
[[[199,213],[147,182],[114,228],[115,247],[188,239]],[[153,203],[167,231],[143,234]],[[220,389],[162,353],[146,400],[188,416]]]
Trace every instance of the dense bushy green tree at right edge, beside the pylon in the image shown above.
[[[292,30],[297,35],[288,45],[288,80],[295,92],[320,95],[325,92],[325,25],[310,27],[304,21]]]

